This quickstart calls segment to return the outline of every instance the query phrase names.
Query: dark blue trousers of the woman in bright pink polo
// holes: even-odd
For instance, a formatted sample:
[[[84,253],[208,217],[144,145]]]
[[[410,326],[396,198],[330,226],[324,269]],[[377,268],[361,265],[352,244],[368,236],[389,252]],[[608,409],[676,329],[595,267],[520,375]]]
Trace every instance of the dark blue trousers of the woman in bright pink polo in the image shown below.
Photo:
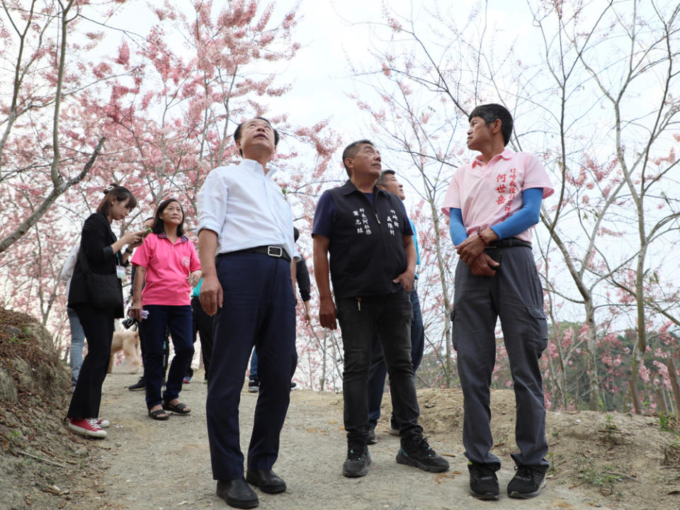
[[[165,400],[179,397],[186,368],[193,358],[191,339],[191,306],[145,305],[149,317],[140,323],[140,341],[144,345],[144,377],[147,383],[147,409]],[[165,329],[170,330],[175,356],[170,363],[168,380],[161,397],[165,377],[163,351]]]

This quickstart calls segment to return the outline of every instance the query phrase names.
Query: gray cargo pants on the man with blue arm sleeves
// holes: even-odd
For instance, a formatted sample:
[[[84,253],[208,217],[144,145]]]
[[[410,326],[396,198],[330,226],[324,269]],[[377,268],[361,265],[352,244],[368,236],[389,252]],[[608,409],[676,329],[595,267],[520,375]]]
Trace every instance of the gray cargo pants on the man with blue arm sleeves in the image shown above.
[[[543,288],[531,248],[512,246],[486,251],[501,262],[496,274],[474,276],[463,261],[455,269],[453,348],[463,388],[463,446],[472,463],[500,468],[493,446],[489,385],[496,363],[497,318],[501,319],[516,400],[516,465],[547,468],[545,401],[538,358],[548,345]]]

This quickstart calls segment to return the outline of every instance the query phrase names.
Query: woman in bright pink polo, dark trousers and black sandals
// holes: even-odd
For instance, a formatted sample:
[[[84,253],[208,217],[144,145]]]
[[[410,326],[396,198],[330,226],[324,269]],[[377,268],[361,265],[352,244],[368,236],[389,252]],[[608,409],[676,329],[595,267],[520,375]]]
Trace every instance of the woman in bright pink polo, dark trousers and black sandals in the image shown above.
[[[200,280],[200,263],[193,243],[184,235],[184,210],[174,198],[164,200],[154,214],[152,233],[135,251],[135,282],[130,316],[140,321],[144,346],[149,417],[168,419],[166,411],[191,412],[179,401],[182,380],[193,358],[191,288]],[[143,290],[142,290],[143,288]],[[148,312],[142,320],[142,309]],[[163,340],[168,327],[175,356],[163,385]]]

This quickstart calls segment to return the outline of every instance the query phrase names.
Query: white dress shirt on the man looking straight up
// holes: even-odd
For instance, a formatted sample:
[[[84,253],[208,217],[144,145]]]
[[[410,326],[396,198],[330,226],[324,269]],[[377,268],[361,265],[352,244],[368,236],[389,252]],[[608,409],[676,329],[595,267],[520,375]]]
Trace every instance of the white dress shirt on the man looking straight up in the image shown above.
[[[198,192],[198,234],[217,233],[217,254],[281,246],[291,261],[297,256],[293,212],[283,191],[261,164],[243,159],[210,171]]]

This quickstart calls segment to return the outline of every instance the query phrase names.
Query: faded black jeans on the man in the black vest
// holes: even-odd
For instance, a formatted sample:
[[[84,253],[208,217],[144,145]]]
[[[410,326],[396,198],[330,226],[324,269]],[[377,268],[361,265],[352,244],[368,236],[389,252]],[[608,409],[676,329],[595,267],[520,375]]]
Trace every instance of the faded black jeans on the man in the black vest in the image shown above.
[[[344,424],[349,441],[368,437],[368,369],[373,360],[373,339],[380,337],[392,387],[392,409],[399,421],[399,435],[416,437],[420,409],[411,363],[411,317],[409,293],[364,296],[361,306],[354,297],[337,300],[342,331],[344,370]]]

